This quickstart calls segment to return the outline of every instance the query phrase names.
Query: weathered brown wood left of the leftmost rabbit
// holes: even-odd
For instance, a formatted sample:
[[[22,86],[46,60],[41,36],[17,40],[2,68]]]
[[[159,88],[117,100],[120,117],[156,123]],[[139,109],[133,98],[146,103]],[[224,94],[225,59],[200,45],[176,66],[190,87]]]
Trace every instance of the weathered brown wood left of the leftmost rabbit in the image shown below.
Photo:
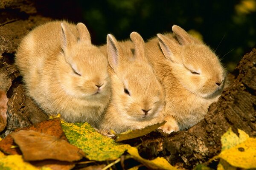
[[[17,127],[26,127],[48,118],[26,96],[19,71],[14,65],[15,51],[21,38],[36,25],[49,21],[49,18],[36,15],[36,12],[33,0],[0,1],[0,89],[9,98],[7,125],[0,132],[0,137]]]

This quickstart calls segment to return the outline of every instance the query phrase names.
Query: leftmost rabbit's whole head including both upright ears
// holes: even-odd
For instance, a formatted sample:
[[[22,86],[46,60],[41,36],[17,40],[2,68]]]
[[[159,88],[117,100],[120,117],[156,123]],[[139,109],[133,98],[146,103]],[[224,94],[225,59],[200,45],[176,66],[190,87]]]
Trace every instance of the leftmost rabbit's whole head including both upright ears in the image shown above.
[[[65,58],[59,79],[62,88],[67,94],[83,99],[109,96],[108,60],[92,45],[83,23],[78,23],[76,29],[78,37],[65,23],[61,23],[61,49]]]

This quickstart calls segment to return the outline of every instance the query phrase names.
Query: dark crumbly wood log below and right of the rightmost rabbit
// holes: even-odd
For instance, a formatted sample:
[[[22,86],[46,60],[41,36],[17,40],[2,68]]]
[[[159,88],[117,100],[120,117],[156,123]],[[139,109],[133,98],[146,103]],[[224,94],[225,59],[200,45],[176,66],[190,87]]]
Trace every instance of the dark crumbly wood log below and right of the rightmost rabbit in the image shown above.
[[[236,133],[239,128],[256,136],[256,49],[242,58],[235,73],[235,82],[210,105],[201,122],[168,136],[156,132],[144,136],[140,154],[147,158],[164,156],[173,165],[191,169],[220,153],[221,136],[229,127]]]

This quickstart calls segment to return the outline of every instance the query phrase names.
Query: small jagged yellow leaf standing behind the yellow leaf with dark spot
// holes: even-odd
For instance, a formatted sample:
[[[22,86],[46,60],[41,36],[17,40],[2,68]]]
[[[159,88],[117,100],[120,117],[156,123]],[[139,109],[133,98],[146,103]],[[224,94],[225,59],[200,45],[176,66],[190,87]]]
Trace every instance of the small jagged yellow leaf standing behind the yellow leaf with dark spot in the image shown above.
[[[249,138],[249,135],[247,135],[243,130],[239,129],[238,132],[239,136],[237,136],[236,133],[234,133],[230,127],[227,130],[227,132],[221,136],[221,150],[226,150],[231,147],[234,147],[237,144],[240,144],[241,142],[244,142]]]

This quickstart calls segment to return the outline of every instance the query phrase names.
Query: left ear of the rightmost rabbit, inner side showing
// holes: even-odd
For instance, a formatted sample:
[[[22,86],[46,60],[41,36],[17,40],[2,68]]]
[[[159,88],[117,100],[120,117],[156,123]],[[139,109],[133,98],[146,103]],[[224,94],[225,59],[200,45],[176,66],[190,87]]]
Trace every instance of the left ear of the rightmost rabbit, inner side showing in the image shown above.
[[[177,54],[180,54],[181,45],[173,40],[170,40],[163,34],[157,34],[157,37],[164,56],[167,59],[170,59],[172,62],[179,62],[176,56]]]

